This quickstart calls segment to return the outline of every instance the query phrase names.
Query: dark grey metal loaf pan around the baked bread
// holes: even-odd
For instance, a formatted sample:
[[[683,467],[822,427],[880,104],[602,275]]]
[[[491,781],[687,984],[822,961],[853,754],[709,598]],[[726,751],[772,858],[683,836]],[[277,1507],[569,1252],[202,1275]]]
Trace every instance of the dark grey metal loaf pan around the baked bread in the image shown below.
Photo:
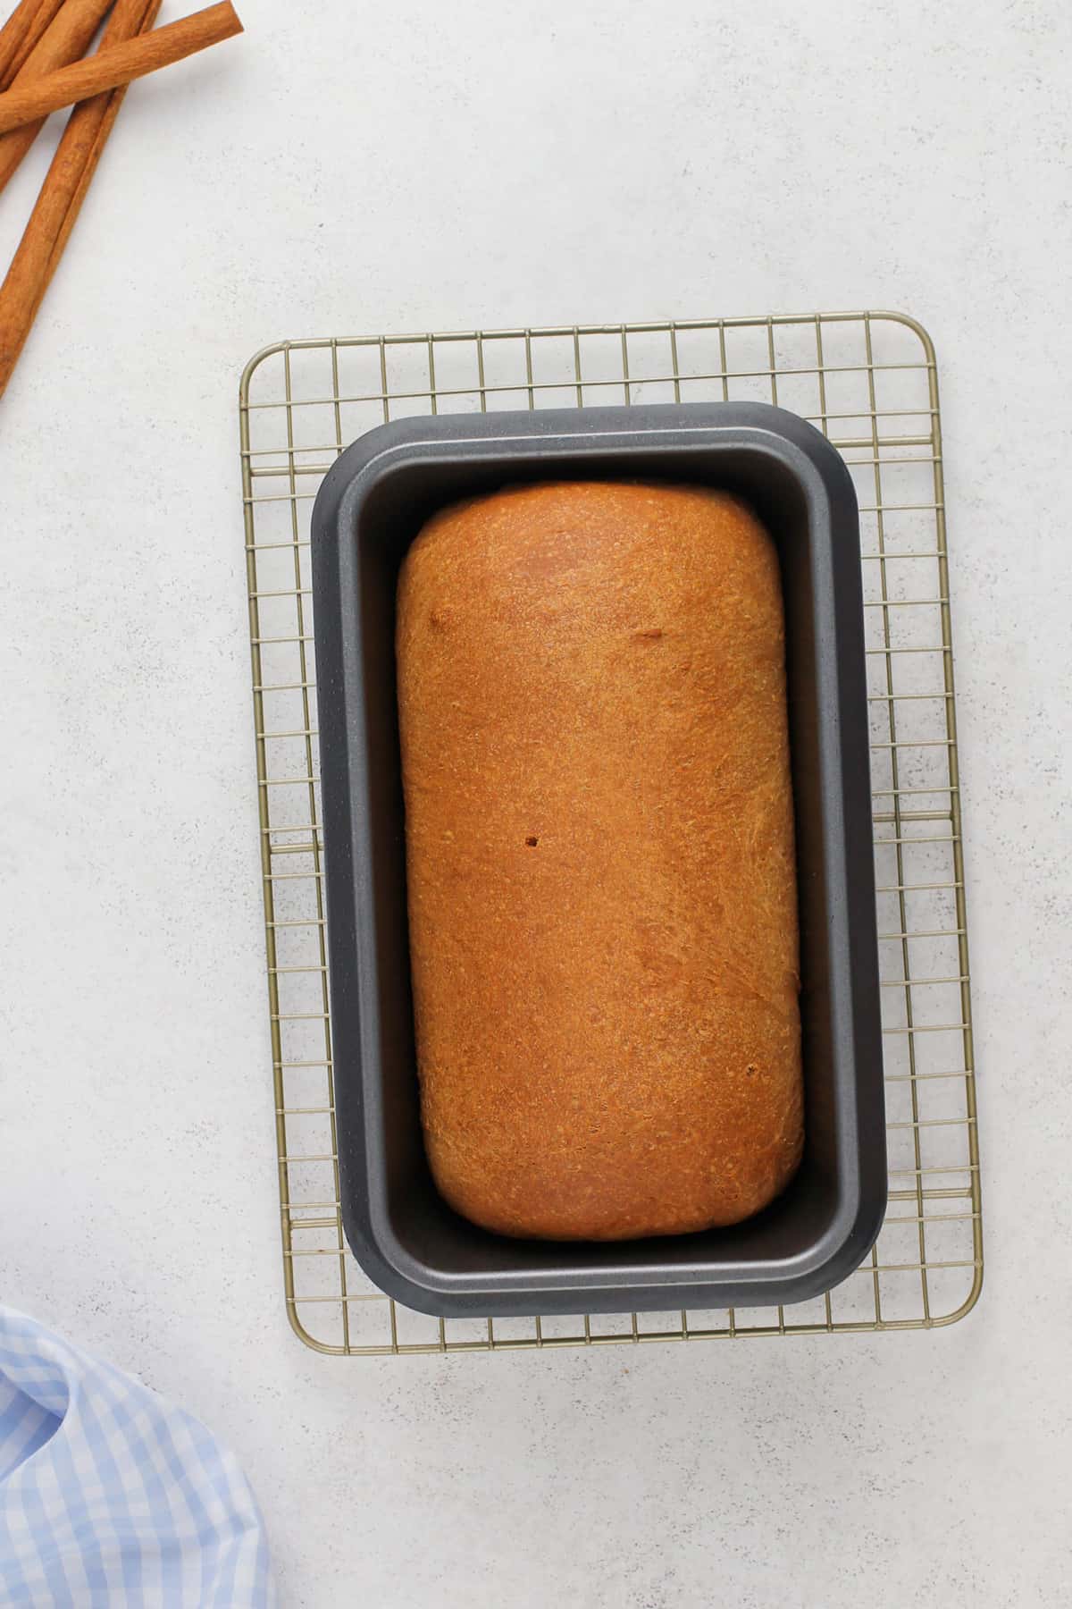
[[[800,903],[805,1152],[728,1229],[614,1244],[513,1241],[460,1218],[421,1142],[395,706],[395,584],[428,516],[535,479],[691,481],[770,529],[786,599]],[[850,1274],[886,1208],[857,500],[829,442],[783,409],[683,404],[383,425],[313,510],[313,613],[341,1205],[365,1271],[410,1308],[620,1313],[799,1302]]]

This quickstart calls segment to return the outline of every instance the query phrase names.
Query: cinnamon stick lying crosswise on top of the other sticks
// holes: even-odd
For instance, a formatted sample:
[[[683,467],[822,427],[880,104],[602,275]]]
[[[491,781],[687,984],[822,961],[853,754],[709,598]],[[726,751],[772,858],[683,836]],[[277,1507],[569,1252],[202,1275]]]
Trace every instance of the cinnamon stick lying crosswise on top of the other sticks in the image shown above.
[[[130,84],[132,79],[167,68],[172,61],[193,56],[209,45],[219,45],[220,40],[231,39],[241,31],[235,6],[230,0],[222,0],[220,5],[194,11],[178,23],[156,27],[151,34],[140,34],[122,45],[98,50],[87,61],[72,61],[71,66],[47,72],[26,85],[19,82],[0,95],[0,135],[18,130],[32,119],[45,117],[59,106],[69,106],[71,101]]]

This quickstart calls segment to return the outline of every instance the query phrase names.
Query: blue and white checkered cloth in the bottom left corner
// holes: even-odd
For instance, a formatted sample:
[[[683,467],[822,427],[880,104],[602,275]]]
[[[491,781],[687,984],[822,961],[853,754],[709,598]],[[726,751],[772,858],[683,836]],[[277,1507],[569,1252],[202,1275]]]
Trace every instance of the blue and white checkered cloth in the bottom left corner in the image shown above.
[[[275,1604],[233,1456],[182,1408],[5,1307],[0,1604]]]

